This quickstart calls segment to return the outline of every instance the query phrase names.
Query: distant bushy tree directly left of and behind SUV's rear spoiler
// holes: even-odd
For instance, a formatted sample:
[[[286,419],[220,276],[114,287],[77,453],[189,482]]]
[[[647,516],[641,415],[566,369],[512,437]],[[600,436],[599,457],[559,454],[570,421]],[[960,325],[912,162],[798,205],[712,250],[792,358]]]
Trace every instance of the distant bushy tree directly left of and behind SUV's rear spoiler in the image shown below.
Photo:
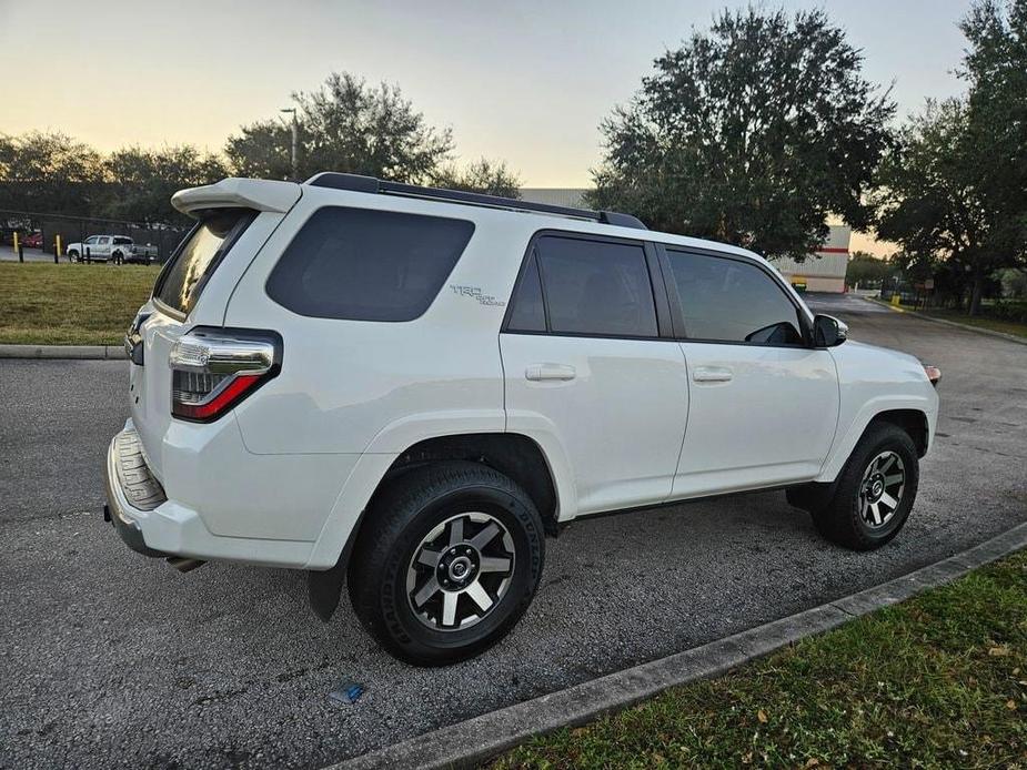
[[[97,213],[142,223],[182,220],[171,205],[171,196],[178,190],[228,176],[221,158],[201,153],[188,144],[161,150],[125,148],[112,152],[104,166],[110,184]]]

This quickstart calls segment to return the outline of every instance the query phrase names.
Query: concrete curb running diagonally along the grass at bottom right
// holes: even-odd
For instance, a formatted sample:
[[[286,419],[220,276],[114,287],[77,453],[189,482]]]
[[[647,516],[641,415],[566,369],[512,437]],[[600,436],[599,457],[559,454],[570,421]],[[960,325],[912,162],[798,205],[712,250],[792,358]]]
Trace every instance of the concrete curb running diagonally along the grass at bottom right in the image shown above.
[[[426,732],[325,770],[464,768],[562,727],[624,709],[667,688],[714,677],[1027,547],[1027,523],[895,580],[724,639]]]

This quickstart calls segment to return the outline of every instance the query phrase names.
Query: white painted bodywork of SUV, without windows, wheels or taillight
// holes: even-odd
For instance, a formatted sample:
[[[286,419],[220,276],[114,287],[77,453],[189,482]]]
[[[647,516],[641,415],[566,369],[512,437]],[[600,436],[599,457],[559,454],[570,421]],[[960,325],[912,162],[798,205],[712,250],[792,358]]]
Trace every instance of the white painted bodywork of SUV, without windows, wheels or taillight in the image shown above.
[[[286,182],[226,180],[182,191],[187,212],[259,211],[188,317],[141,310],[132,423],[168,500],[133,510],[147,546],[197,558],[308,569],[335,565],[393,462],[419,442],[527,436],[542,450],[561,521],[705,495],[832,482],[875,415],[937,395],[913,357],[854,342],[830,349],[501,333],[525,249],[541,230],[744,250],[590,221]],[[467,220],[475,231],[419,318],[308,317],[273,302],[268,277],[321,206]],[[786,283],[783,291],[812,320]],[[195,326],[273,330],[281,371],[210,424],[170,414],[172,344]],[[528,379],[532,367],[571,379]],[[727,369],[731,379],[718,379]],[[703,371],[715,376],[706,377]],[[696,373],[699,382],[696,382]]]

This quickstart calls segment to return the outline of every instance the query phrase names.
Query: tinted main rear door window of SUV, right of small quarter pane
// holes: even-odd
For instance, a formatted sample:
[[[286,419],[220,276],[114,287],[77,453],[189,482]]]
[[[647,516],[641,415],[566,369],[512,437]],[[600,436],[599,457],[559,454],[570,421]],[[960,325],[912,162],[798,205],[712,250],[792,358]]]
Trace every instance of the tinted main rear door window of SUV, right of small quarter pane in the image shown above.
[[[545,235],[535,255],[554,333],[655,337],[642,245]]]

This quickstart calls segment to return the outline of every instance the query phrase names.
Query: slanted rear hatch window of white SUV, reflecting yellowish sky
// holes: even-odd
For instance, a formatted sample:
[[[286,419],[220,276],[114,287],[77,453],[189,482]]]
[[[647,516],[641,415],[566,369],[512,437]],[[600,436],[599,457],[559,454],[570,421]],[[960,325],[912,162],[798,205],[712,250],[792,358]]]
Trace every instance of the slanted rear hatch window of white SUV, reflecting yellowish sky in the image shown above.
[[[201,220],[161,272],[153,297],[188,314],[224,254],[254,216],[255,212],[248,209],[226,209]]]

